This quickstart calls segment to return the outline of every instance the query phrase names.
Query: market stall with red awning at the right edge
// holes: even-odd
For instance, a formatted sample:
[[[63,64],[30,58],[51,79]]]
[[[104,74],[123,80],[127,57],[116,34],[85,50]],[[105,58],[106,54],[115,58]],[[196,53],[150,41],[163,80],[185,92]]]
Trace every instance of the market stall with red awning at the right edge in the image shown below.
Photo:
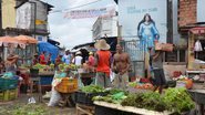
[[[188,64],[186,75],[193,77],[195,83],[205,86],[205,28],[197,27],[189,30],[188,38]],[[197,112],[204,115],[205,92],[204,90],[188,91],[197,103]]]

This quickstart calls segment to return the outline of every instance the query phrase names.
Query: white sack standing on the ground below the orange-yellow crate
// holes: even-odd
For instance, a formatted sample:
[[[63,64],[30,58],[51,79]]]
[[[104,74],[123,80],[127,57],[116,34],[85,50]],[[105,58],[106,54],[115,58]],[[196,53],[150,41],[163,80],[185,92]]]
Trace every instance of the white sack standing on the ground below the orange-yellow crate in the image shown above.
[[[57,91],[54,90],[54,87],[52,87],[52,91],[51,91],[51,98],[50,98],[50,101],[49,101],[48,106],[55,106],[55,105],[59,103],[60,100],[61,100],[60,93],[57,92]]]

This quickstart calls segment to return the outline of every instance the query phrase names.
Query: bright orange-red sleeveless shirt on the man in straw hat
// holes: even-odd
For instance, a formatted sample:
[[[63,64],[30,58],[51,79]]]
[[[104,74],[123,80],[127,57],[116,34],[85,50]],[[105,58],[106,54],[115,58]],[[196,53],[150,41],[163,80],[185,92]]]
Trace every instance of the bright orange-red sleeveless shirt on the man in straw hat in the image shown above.
[[[98,51],[99,56],[96,72],[103,72],[110,75],[110,59],[111,52],[110,51]]]

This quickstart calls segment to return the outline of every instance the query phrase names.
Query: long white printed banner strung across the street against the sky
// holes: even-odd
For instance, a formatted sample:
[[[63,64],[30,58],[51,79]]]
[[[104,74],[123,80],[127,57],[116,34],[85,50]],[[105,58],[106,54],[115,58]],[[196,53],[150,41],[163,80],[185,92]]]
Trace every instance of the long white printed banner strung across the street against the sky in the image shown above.
[[[115,15],[115,9],[112,7],[90,10],[72,10],[66,12],[64,18],[83,19],[83,18],[113,17],[113,15]]]

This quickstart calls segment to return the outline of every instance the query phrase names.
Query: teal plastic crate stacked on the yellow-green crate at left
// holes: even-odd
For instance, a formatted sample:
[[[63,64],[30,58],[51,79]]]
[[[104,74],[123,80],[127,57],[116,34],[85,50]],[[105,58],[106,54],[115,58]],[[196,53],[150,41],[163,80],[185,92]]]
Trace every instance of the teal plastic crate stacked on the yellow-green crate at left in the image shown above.
[[[17,88],[18,80],[2,79],[0,77],[0,90],[12,90]]]

